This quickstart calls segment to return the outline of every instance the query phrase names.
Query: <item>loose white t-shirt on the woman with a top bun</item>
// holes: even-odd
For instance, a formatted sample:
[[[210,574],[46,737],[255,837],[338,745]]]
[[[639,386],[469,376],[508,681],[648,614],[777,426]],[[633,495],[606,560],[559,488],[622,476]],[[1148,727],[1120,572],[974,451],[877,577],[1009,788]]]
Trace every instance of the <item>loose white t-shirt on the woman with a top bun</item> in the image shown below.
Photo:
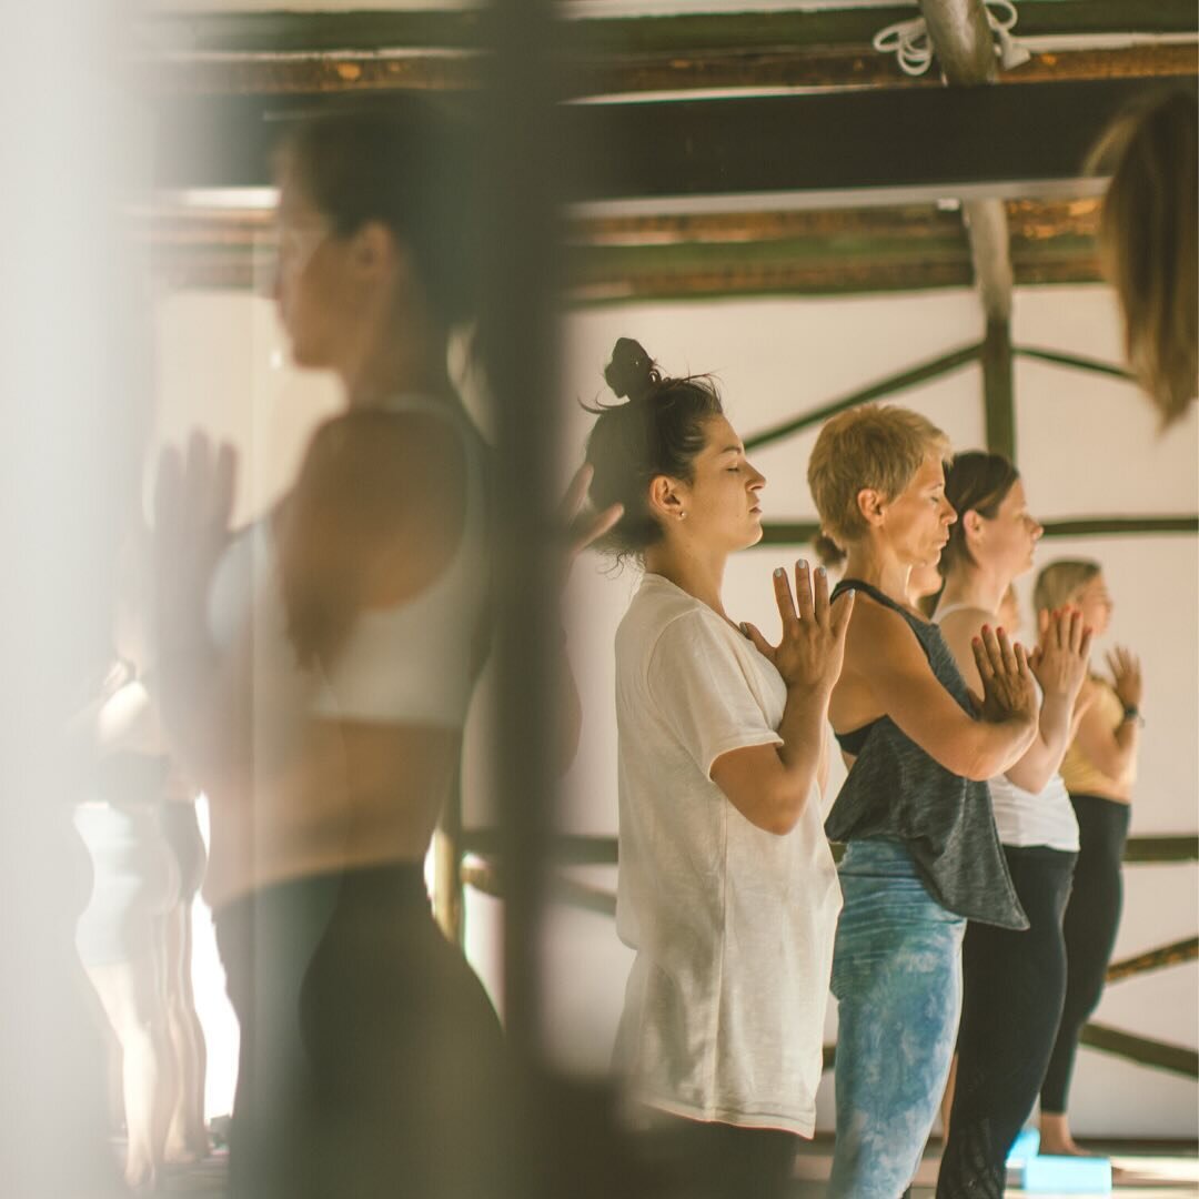
[[[645,576],[616,633],[616,930],[637,959],[615,1062],[652,1108],[809,1137],[840,910],[820,797],[778,837],[709,777],[782,745],[785,701],[746,638]]]

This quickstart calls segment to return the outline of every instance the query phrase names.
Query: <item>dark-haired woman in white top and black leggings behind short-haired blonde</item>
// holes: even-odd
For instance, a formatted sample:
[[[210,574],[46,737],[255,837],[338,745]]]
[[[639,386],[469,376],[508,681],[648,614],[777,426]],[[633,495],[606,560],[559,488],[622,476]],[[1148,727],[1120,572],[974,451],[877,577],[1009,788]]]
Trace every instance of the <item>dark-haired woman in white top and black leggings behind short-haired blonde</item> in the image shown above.
[[[936,622],[968,686],[981,685],[971,640],[996,620],[1012,579],[1029,571],[1042,529],[1002,456],[958,454],[945,477],[958,520],[941,553]],[[1023,930],[970,921],[948,1135],[936,1193],[999,1199],[1008,1150],[1036,1102],[1066,990],[1062,914],[1078,855],[1078,821],[1059,773],[1080,716],[1091,631],[1074,608],[1042,611],[1030,658],[1037,735],[989,782],[1008,873],[1029,918]]]

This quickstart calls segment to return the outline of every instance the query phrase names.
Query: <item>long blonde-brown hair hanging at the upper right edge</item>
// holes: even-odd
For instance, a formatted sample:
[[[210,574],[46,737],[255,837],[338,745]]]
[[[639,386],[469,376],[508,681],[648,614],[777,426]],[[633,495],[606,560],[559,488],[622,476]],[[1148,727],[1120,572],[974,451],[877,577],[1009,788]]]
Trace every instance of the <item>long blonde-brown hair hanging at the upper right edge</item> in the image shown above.
[[[1163,424],[1199,390],[1197,141],[1195,97],[1167,92],[1117,118],[1089,162],[1111,173],[1099,253],[1120,299],[1128,364]]]

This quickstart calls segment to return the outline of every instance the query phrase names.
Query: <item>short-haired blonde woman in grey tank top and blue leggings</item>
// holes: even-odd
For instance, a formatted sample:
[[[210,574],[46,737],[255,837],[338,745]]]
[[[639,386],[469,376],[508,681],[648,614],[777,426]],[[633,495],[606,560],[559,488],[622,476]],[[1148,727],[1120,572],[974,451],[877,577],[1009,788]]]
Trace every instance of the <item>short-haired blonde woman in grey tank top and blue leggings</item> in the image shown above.
[[[849,552],[835,595],[857,594],[830,704],[850,769],[825,825],[846,843],[832,974],[837,1199],[898,1199],[911,1182],[953,1053],[966,918],[1028,923],[986,784],[1036,735],[1024,650],[984,628],[972,699],[909,601],[912,571],[935,564],[957,519],[947,454],[924,417],[870,405],[825,424],[808,465],[824,531]]]

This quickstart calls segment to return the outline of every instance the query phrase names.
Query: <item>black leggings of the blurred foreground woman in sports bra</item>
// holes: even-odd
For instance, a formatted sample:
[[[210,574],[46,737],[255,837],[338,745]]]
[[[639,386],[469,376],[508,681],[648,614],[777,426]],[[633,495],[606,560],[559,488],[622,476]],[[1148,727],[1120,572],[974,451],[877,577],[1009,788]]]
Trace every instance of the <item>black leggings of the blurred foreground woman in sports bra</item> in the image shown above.
[[[231,1199],[486,1197],[504,1059],[421,868],[266,887],[217,914],[241,1025]]]

